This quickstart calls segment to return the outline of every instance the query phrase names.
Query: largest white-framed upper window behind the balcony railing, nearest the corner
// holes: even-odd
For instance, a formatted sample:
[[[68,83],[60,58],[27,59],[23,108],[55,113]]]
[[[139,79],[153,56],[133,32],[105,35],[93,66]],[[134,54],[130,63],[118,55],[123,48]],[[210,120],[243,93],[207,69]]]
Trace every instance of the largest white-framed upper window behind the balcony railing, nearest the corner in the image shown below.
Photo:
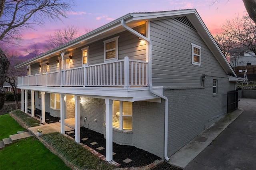
[[[104,41],[104,62],[118,60],[118,37]]]

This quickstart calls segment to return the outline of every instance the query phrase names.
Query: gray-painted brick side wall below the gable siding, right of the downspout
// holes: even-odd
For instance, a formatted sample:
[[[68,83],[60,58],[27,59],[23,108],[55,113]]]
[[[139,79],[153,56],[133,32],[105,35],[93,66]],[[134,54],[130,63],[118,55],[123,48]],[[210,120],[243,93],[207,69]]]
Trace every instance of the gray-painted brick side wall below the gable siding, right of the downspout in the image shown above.
[[[212,95],[212,80],[218,80],[218,93]],[[165,88],[169,99],[168,156],[192,140],[205,128],[226,115],[227,92],[235,89],[228,78],[206,77],[204,87]]]

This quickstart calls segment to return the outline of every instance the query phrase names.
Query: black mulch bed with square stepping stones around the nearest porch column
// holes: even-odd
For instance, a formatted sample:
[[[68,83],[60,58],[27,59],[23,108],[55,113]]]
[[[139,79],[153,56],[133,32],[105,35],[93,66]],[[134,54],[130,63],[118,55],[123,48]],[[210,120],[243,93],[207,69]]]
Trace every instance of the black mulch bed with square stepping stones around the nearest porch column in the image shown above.
[[[68,134],[66,132],[66,134]],[[97,152],[102,155],[105,155],[106,150],[98,150],[100,146],[106,148],[106,140],[103,134],[95,132],[85,127],[80,128],[81,134],[81,142],[90,148],[93,148]],[[69,136],[74,138],[74,133],[68,134]],[[82,140],[83,138],[88,138],[87,140]],[[92,142],[97,142],[98,144],[92,145]],[[113,142],[113,152],[116,153],[113,155],[113,160],[121,164],[119,167],[138,167],[138,166],[145,166],[148,164],[153,163],[155,160],[160,160],[161,158],[151,154],[145,150],[136,148],[134,146],[127,146],[127,145],[119,145]],[[129,163],[123,162],[126,158],[131,159],[132,161]],[[181,170],[180,168],[176,168],[164,162],[160,166],[154,168],[154,170]]]

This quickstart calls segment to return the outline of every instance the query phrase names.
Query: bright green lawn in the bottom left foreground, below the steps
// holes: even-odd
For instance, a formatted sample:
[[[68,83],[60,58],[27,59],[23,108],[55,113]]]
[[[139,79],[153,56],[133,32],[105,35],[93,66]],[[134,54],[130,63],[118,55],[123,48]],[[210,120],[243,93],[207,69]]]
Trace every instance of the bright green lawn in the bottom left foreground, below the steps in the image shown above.
[[[1,170],[70,170],[34,137],[25,138],[0,150],[0,162]]]

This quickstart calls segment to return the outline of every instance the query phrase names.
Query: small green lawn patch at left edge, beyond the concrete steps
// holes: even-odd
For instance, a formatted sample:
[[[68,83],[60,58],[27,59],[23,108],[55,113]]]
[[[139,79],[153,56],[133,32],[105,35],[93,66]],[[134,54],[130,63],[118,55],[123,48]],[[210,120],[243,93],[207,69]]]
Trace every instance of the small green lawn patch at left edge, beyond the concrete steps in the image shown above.
[[[26,130],[21,127],[9,114],[0,116],[0,140],[8,138],[12,134],[17,134],[20,130]]]

